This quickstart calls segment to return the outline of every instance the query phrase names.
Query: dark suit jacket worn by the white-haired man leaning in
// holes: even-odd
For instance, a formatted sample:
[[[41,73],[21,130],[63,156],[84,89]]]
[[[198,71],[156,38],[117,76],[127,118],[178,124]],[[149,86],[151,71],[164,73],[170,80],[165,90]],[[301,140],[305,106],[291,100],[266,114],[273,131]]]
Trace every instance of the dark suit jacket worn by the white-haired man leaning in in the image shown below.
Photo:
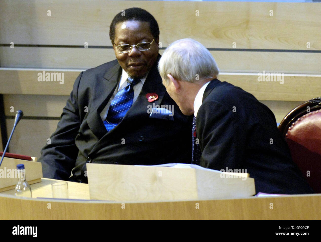
[[[201,166],[247,169],[256,193],[313,193],[292,162],[272,111],[239,87],[217,79],[207,85],[196,135]]]

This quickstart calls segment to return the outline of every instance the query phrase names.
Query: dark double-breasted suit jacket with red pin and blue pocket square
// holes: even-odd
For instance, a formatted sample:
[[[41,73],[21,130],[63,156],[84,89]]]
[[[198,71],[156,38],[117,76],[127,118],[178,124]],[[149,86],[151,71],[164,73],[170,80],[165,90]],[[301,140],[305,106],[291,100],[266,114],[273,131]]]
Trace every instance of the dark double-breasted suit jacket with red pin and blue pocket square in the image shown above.
[[[100,112],[116,89],[122,68],[117,60],[81,72],[63,109],[51,144],[39,159],[47,178],[87,182],[86,163],[156,165],[190,163],[192,116],[183,115],[162,84],[157,64],[124,119],[107,132]],[[147,93],[155,105],[174,105],[174,120],[151,118]],[[86,111],[88,108],[88,112]],[[124,144],[125,142],[125,144]],[[69,179],[70,180],[70,179]]]

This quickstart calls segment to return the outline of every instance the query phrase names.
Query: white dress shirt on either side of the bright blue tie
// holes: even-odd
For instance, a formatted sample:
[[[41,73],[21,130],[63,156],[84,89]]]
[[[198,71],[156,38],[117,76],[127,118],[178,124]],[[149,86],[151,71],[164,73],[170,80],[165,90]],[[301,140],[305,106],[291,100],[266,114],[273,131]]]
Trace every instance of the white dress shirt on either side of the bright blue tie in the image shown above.
[[[139,83],[134,85],[134,100],[133,100],[133,103],[137,100],[137,98],[139,96],[139,93],[142,90],[142,87],[144,85],[144,82],[146,80],[147,75],[148,75],[148,72],[146,73],[146,75],[143,78],[140,78],[141,81]],[[100,112],[100,117],[101,117],[102,121],[104,121],[106,119],[106,117],[107,117],[107,113],[108,113],[108,109],[109,109],[111,101],[114,99],[114,97],[116,96],[118,91],[121,90],[122,88],[124,88],[127,85],[127,82],[126,82],[127,78],[128,78],[128,74],[123,69],[122,75],[120,77],[120,82],[119,82],[119,85],[118,85],[118,89],[117,88],[115,89],[115,91],[111,95],[106,107]]]

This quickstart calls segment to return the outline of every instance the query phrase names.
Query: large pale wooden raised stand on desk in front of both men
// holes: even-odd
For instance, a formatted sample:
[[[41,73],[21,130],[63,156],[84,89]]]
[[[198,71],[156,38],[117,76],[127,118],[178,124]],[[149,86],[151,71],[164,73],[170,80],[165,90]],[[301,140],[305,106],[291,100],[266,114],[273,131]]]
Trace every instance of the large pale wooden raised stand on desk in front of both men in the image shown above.
[[[90,198],[97,200],[207,200],[256,194],[254,179],[245,173],[235,176],[191,168],[87,164],[87,174]]]

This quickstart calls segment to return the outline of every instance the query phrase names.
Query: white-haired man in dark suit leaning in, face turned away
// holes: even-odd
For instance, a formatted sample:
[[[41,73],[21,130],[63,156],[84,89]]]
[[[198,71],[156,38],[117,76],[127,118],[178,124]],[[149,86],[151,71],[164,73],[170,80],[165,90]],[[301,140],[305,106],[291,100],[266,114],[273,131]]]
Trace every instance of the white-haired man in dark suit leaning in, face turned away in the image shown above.
[[[291,160],[271,110],[252,94],[216,79],[218,67],[202,44],[173,42],[158,68],[182,113],[194,113],[193,164],[246,169],[255,179],[256,193],[313,193]]]

